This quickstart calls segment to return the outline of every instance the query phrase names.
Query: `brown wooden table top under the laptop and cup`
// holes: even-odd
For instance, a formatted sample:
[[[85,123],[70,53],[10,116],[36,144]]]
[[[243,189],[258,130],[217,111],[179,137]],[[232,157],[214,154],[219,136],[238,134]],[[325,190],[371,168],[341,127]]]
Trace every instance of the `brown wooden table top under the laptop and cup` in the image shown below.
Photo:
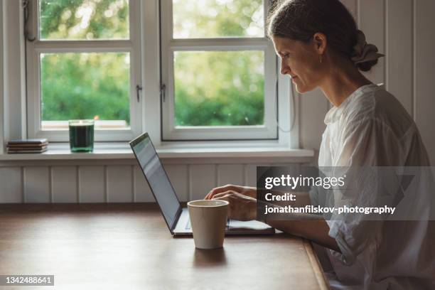
[[[55,287],[21,289],[328,289],[306,240],[225,237],[223,249],[195,249],[149,204],[0,205],[0,274],[55,275]]]

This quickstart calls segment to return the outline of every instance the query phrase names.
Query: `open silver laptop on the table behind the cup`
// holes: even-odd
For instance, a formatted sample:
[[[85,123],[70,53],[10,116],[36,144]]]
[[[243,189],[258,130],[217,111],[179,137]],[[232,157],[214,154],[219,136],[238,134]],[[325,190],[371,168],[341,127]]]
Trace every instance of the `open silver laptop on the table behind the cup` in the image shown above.
[[[188,209],[182,207],[147,133],[130,141],[171,235],[192,235]],[[205,193],[204,193],[205,196]],[[257,220],[228,220],[225,235],[271,235],[275,229]]]

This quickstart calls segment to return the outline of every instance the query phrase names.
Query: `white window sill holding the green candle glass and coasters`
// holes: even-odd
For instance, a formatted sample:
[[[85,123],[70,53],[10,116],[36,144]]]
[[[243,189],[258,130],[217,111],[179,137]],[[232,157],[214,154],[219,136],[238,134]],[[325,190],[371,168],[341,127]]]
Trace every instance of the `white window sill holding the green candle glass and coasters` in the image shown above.
[[[156,148],[161,159],[196,158],[249,158],[289,157],[313,158],[311,149],[289,149],[282,146],[179,146],[163,145]],[[48,151],[41,154],[0,154],[0,161],[31,160],[92,160],[92,159],[134,159],[127,143],[96,143],[90,153],[72,153],[69,144],[53,143]]]

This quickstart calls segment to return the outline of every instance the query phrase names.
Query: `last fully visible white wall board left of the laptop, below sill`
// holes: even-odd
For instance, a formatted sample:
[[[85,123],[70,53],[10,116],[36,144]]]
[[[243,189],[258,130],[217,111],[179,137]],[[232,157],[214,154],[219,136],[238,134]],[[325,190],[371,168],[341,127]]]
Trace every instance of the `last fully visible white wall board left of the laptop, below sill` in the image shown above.
[[[133,202],[132,166],[107,166],[107,202]]]

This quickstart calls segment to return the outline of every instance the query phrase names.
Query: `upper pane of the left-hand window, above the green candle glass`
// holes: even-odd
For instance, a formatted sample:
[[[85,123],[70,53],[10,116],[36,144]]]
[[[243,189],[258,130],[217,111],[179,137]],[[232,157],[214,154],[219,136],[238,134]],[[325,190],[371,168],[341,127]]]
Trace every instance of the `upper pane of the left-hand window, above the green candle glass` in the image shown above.
[[[129,38],[128,0],[40,0],[41,39]]]

